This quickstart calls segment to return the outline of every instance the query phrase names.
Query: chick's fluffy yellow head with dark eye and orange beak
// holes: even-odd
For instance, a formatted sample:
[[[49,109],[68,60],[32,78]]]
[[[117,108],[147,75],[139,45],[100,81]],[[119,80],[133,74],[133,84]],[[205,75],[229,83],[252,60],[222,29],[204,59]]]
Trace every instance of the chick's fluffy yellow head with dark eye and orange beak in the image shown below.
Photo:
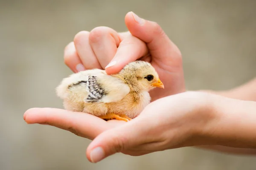
[[[125,82],[138,91],[150,91],[153,88],[164,88],[154,67],[144,61],[130,62],[119,72]]]

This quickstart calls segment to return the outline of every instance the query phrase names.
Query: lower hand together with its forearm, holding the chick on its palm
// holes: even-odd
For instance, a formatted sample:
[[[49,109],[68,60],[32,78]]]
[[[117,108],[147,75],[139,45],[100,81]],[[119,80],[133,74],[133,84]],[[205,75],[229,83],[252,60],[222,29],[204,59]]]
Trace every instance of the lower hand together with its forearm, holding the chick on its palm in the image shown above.
[[[53,108],[29,109],[24,120],[94,139],[87,148],[87,159],[98,162],[116,152],[139,156],[201,145],[255,154],[255,112],[256,102],[184,92],[151,102],[129,122],[106,122],[87,113]]]

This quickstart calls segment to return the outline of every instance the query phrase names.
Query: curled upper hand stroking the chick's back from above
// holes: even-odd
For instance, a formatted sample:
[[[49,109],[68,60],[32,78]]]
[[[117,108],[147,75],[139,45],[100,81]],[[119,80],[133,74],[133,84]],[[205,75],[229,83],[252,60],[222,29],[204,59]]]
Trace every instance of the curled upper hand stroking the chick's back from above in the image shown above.
[[[97,27],[76,34],[64,51],[64,61],[74,72],[105,68],[107,74],[118,73],[126,64],[137,59],[151,62],[165,89],[150,91],[152,100],[185,91],[182,56],[177,46],[162,28],[143,20],[133,12],[125,16],[128,32]]]

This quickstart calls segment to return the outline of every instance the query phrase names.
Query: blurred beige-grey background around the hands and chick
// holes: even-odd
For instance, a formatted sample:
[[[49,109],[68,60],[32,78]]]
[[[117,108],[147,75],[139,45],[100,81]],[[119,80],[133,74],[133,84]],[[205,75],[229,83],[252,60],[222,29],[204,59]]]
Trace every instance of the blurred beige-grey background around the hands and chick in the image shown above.
[[[90,140],[26,125],[34,107],[62,108],[55,87],[72,72],[64,47],[76,33],[126,31],[134,11],[155,21],[183,54],[189,90],[226,90],[256,76],[255,0],[0,0],[0,170],[255,170],[255,157],[180,148],[87,161]]]

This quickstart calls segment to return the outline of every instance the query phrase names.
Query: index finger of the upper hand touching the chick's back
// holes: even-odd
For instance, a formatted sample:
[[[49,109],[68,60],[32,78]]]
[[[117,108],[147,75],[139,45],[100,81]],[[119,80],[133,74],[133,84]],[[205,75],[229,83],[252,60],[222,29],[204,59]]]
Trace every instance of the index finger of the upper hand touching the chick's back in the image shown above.
[[[146,54],[148,54],[146,44],[137,37],[129,35],[119,44],[115,57],[105,68],[106,73],[116,74],[129,62],[133,62]]]

